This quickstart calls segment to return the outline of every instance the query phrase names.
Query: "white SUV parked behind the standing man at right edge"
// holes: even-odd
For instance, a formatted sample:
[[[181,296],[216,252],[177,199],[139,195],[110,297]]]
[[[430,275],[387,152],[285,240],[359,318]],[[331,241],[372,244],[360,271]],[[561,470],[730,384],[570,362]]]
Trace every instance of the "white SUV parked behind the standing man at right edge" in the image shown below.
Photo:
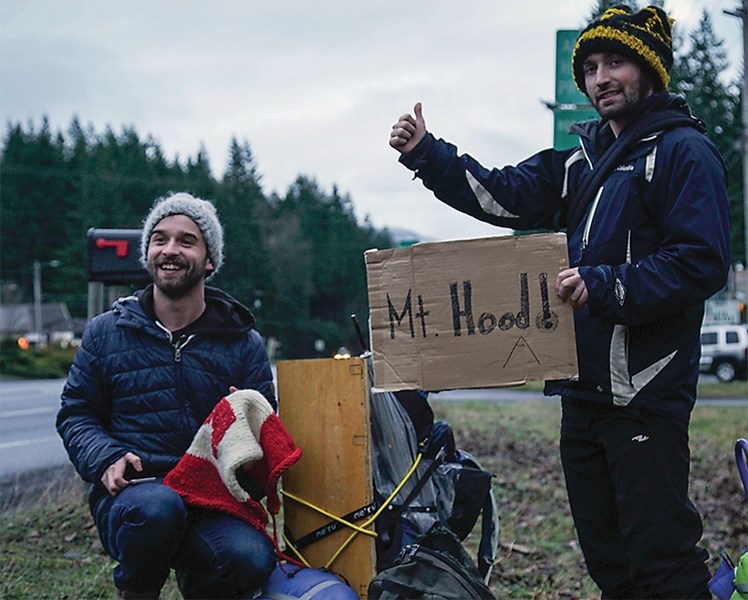
[[[748,325],[704,325],[699,368],[724,382],[748,377]]]

